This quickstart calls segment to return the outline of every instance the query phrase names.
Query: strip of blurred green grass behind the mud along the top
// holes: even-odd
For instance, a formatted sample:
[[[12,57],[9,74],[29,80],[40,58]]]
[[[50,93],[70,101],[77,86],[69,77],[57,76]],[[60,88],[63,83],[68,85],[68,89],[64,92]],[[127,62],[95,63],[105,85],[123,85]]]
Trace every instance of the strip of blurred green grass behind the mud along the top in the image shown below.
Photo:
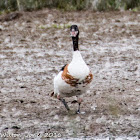
[[[31,11],[43,7],[63,11],[88,10],[140,10],[140,0],[0,0],[0,11]]]

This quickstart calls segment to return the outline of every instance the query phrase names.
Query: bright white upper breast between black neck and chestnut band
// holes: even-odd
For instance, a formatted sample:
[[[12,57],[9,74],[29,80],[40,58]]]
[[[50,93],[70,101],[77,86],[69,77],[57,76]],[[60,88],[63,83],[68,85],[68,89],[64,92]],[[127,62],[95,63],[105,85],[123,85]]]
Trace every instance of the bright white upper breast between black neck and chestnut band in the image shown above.
[[[74,51],[72,61],[68,66],[68,71],[70,75],[79,79],[79,81],[85,79],[89,74],[90,70],[79,51]]]

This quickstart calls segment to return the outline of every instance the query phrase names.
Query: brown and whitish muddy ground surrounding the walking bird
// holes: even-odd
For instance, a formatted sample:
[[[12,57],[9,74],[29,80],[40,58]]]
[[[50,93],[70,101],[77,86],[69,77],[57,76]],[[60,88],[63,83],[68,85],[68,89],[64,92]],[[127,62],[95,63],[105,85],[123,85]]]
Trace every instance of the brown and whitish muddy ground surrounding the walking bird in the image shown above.
[[[140,13],[23,12],[0,21],[0,139],[140,138]],[[69,26],[94,75],[70,115],[49,94],[72,58]],[[77,105],[66,99],[69,106]]]

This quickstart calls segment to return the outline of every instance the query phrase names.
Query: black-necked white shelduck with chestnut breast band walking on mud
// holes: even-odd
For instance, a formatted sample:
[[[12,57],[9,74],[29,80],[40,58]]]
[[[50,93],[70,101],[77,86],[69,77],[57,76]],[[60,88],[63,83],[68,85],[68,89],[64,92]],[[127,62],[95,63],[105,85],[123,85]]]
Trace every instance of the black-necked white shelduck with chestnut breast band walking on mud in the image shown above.
[[[70,108],[65,101],[65,97],[78,97],[83,93],[86,93],[86,90],[89,88],[93,79],[93,74],[79,51],[79,33],[77,25],[72,25],[70,27],[70,36],[73,42],[72,60],[69,64],[64,65],[60,72],[54,77],[54,92],[51,94],[51,96],[56,97],[63,103],[68,112],[70,111]],[[81,98],[74,101],[79,104],[78,109],[76,110],[76,113],[78,114],[81,113],[80,105],[82,101]]]

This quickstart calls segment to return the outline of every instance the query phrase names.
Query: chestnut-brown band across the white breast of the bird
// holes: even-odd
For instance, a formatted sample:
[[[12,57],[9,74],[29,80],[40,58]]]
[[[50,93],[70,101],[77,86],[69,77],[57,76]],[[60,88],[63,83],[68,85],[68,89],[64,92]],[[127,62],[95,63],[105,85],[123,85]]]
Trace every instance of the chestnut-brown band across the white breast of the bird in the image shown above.
[[[82,81],[79,81],[79,79],[74,78],[73,76],[71,76],[69,74],[68,71],[68,64],[66,65],[66,67],[64,68],[64,71],[62,73],[62,79],[69,85],[76,87],[79,84],[89,84],[92,79],[93,79],[93,75],[90,72],[89,75]]]

